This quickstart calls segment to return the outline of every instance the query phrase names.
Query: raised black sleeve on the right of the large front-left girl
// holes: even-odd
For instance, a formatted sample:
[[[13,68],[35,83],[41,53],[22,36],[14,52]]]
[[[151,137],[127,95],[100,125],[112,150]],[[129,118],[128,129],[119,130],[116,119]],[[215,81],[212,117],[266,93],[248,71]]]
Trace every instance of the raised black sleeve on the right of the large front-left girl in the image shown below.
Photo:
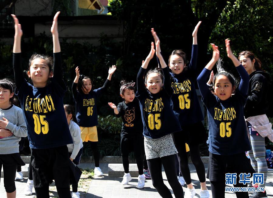
[[[63,90],[66,90],[66,84],[63,81],[61,52],[53,53],[53,60],[53,78],[57,81]]]

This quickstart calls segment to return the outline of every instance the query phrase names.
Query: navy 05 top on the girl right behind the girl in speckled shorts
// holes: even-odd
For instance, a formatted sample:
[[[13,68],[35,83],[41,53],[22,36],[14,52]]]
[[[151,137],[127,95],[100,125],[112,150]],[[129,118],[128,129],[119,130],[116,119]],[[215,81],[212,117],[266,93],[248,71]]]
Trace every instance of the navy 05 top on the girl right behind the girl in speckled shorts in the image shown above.
[[[180,74],[171,73],[172,108],[181,126],[204,120],[194,83],[198,45],[192,45],[192,57],[187,70]]]

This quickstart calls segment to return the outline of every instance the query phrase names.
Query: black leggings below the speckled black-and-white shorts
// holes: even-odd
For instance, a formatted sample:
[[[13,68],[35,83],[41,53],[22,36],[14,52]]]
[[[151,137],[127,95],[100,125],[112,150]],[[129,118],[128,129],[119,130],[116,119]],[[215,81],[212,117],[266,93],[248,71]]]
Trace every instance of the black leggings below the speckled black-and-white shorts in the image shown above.
[[[167,180],[176,198],[184,197],[183,189],[177,180],[175,155],[147,160],[152,184],[163,198],[172,198],[168,187],[163,183],[162,164],[167,176]]]

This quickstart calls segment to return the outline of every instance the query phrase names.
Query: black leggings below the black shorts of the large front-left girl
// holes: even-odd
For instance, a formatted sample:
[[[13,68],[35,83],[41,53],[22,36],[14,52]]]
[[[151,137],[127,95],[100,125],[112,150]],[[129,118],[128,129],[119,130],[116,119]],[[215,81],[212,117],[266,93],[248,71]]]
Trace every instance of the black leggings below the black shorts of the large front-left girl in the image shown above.
[[[60,198],[68,198],[71,197],[70,195],[70,188],[60,188],[56,187],[57,192]],[[49,198],[49,186],[41,187],[41,188],[35,188],[35,193],[37,198]]]

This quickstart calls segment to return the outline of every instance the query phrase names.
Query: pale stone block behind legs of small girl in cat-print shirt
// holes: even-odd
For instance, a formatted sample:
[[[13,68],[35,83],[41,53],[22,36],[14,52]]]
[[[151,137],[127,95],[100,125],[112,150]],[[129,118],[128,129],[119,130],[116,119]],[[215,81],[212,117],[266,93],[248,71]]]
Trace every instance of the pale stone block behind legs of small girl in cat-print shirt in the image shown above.
[[[129,164],[129,173],[131,177],[138,177],[138,166],[136,163]],[[124,168],[121,163],[109,163],[108,164],[108,176],[109,177],[123,177]]]

